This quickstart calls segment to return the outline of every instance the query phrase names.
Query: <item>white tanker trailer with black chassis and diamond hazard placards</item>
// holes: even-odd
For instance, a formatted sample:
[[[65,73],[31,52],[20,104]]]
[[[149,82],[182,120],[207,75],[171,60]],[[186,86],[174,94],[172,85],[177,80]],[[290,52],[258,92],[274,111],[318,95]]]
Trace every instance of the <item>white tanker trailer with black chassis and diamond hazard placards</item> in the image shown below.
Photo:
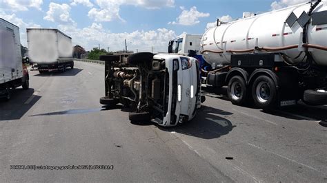
[[[327,2],[318,0],[230,23],[217,20],[201,39],[201,82],[227,86],[235,105],[269,109],[300,99],[326,105],[326,17]]]

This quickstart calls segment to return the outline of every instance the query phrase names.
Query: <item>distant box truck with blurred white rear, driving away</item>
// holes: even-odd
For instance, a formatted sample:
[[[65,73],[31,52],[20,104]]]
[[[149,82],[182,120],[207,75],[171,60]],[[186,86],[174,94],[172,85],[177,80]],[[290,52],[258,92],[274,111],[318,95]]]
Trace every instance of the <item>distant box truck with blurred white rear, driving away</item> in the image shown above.
[[[28,28],[28,55],[32,71],[65,72],[74,68],[72,38],[57,29]]]

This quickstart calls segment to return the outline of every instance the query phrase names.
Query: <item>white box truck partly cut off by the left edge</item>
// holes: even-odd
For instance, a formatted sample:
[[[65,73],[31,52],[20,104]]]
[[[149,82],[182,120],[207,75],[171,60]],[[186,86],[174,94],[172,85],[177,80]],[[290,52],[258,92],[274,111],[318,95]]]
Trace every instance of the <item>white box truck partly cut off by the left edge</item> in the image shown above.
[[[0,98],[10,99],[11,89],[29,87],[28,69],[21,57],[19,27],[0,18]]]

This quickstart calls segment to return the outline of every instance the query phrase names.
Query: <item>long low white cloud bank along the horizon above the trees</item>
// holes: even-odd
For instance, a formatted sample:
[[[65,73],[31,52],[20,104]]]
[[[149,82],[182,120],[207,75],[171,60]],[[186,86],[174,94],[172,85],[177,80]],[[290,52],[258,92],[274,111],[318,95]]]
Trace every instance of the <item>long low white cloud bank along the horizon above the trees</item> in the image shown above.
[[[175,39],[173,30],[159,28],[157,30],[135,30],[134,32],[112,33],[103,29],[101,23],[92,23],[87,28],[76,28],[73,25],[59,25],[59,30],[72,37],[72,43],[78,44],[91,50],[100,44],[101,48],[110,47],[110,50],[117,51],[125,48],[127,40],[128,50],[139,52],[150,52],[155,47],[155,52],[167,52],[168,41]]]

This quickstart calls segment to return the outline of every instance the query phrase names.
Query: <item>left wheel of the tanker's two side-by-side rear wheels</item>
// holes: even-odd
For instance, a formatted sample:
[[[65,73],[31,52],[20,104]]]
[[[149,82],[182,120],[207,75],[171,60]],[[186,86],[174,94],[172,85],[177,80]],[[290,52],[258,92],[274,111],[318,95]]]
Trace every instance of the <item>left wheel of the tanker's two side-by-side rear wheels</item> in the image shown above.
[[[246,83],[241,76],[233,76],[228,83],[227,94],[234,105],[244,105],[246,102]]]

